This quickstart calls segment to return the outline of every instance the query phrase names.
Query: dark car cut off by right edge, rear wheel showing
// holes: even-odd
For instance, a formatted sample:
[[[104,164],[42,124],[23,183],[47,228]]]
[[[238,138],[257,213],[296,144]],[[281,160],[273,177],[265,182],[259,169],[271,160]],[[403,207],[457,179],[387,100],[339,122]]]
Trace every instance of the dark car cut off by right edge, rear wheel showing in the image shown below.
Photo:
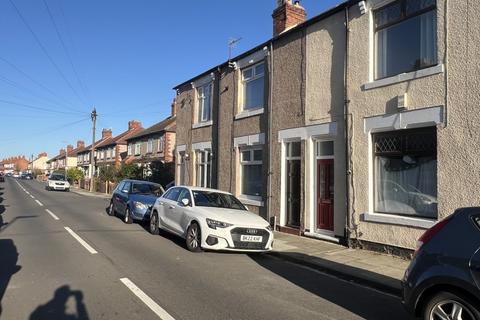
[[[458,209],[422,235],[403,304],[425,320],[480,320],[480,208]]]

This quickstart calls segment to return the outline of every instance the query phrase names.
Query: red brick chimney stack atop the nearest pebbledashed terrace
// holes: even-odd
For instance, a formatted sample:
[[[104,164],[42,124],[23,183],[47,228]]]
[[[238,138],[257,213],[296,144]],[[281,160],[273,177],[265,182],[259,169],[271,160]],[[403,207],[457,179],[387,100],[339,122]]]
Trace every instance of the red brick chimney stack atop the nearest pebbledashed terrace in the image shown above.
[[[305,21],[307,13],[300,5],[300,1],[292,2],[277,0],[277,8],[272,13],[274,37]]]

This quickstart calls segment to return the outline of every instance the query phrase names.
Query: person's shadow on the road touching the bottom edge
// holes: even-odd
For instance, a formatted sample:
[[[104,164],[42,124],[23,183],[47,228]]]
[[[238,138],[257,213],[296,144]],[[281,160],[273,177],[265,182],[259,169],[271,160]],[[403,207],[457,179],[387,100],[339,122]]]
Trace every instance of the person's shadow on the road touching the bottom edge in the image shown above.
[[[75,299],[75,314],[67,314],[67,303],[70,298]],[[61,286],[55,290],[50,301],[32,312],[29,320],[89,320],[82,291],[71,290],[68,285]]]

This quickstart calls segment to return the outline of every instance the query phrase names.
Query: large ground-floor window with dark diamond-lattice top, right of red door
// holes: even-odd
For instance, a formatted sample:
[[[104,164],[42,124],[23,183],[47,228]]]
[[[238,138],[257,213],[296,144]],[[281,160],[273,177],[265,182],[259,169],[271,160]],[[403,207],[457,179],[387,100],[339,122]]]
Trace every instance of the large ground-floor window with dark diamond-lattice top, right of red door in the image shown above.
[[[373,134],[375,211],[437,217],[435,127]]]

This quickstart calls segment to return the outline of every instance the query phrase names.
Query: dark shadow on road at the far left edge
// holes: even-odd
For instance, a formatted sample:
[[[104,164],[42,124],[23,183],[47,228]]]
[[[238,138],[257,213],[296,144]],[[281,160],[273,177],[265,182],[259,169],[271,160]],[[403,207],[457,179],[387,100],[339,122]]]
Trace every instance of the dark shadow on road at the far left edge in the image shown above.
[[[17,261],[18,252],[13,240],[0,239],[0,318],[2,316],[1,303],[10,278],[21,269],[20,266],[17,266]]]

